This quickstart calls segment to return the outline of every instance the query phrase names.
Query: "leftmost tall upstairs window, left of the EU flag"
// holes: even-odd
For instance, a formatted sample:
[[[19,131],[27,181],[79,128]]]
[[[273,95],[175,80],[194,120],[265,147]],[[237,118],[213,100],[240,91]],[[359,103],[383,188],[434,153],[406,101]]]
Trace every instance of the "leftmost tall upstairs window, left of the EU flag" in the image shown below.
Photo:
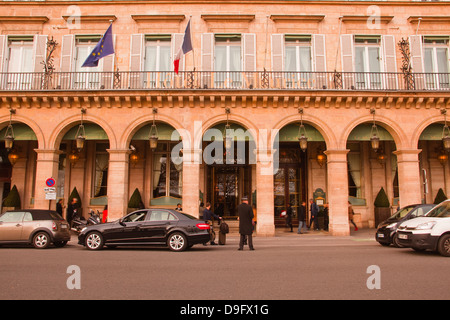
[[[30,89],[33,72],[33,36],[8,37],[8,88]]]

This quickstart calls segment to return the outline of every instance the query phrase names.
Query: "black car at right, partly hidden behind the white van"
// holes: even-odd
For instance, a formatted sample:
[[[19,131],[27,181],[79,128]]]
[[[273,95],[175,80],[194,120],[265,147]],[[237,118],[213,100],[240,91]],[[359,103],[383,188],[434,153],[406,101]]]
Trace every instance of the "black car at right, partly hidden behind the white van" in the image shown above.
[[[375,236],[376,240],[383,246],[389,246],[393,244],[395,247],[401,248],[402,245],[398,243],[397,239],[398,226],[406,220],[423,216],[434,206],[434,204],[413,204],[401,208],[392,217],[388,218],[378,225],[377,233]]]

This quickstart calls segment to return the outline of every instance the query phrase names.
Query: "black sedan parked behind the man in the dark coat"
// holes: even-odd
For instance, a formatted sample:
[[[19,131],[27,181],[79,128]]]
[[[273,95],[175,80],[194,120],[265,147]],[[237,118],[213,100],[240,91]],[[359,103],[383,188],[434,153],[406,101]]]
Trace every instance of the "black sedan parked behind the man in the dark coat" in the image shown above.
[[[78,243],[90,250],[103,246],[162,244],[183,251],[210,240],[210,226],[186,213],[169,209],[143,209],[111,223],[84,228]]]

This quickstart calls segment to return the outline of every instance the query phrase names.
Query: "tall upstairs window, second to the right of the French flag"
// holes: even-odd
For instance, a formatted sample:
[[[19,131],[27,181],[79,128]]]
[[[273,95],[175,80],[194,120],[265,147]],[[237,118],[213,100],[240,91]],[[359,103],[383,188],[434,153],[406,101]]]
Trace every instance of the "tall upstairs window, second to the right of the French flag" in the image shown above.
[[[311,36],[285,35],[285,78],[288,88],[310,87],[312,71]]]

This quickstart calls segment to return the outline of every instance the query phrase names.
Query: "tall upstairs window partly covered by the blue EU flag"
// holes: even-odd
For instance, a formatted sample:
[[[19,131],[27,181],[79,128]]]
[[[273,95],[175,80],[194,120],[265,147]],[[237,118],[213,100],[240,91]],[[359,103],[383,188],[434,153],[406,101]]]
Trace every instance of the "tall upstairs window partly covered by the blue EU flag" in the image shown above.
[[[99,89],[100,71],[102,71],[103,59],[100,59],[97,67],[82,68],[88,55],[100,41],[101,36],[76,36],[75,38],[75,89]]]

